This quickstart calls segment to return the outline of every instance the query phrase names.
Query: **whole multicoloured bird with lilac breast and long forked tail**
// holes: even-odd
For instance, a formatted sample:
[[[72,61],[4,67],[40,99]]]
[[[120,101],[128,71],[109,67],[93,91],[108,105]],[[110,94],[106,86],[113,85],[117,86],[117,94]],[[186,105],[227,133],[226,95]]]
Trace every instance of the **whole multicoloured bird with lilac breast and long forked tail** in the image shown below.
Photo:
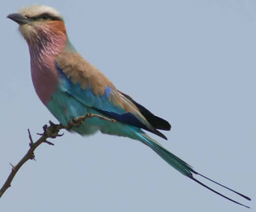
[[[120,92],[103,73],[76,51],[68,38],[64,19],[57,10],[32,5],[21,8],[18,13],[9,14],[7,18],[19,24],[19,32],[29,46],[31,76],[39,99],[63,126],[71,123],[69,131],[82,136],[99,131],[138,140],[197,184],[229,201],[249,207],[201,183],[195,176],[206,178],[251,200],[195,171],[145,133],[148,131],[167,140],[159,130],[169,131],[171,125],[129,95]],[[92,117],[78,126],[72,123],[72,119],[85,114],[101,115],[116,122]]]

